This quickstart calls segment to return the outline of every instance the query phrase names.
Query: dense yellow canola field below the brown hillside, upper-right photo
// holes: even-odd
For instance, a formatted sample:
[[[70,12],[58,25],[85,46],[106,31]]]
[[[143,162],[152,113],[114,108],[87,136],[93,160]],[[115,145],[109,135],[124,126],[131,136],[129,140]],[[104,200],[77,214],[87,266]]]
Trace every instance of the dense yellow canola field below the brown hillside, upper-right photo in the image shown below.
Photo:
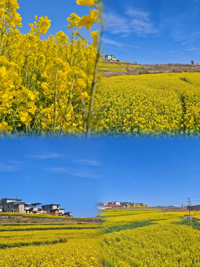
[[[99,94],[107,134],[199,135],[199,73],[102,77]]]

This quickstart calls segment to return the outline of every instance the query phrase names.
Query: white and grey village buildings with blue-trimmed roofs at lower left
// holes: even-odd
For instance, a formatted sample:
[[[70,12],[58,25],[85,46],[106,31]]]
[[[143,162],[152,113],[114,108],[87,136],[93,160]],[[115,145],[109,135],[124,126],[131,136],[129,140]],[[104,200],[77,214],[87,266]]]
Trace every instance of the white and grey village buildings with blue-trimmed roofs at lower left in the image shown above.
[[[40,213],[54,216],[72,217],[71,212],[65,212],[65,208],[61,208],[60,204],[42,205],[42,203],[26,203],[22,198],[1,198],[0,199],[0,213],[1,212],[20,212],[20,213]]]

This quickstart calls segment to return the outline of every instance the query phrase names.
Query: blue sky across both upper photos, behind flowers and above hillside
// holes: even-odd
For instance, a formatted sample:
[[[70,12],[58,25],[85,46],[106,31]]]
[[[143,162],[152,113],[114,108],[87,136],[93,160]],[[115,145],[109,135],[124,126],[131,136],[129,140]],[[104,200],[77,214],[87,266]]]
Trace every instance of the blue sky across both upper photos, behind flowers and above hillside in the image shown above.
[[[51,19],[48,35],[62,30],[68,33],[66,18],[80,17],[89,8],[75,0],[18,0],[22,33],[29,31],[34,16]],[[103,55],[114,54],[123,61],[142,64],[170,62],[200,63],[200,0],[104,0],[105,33]],[[94,26],[92,30],[98,27]],[[81,33],[91,40],[85,27]]]

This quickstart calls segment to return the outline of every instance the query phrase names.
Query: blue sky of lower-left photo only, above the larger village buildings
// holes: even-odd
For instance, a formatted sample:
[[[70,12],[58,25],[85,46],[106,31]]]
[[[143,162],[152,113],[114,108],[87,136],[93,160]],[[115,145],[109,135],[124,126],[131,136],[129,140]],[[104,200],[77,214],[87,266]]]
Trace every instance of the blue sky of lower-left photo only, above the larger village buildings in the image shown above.
[[[1,139],[0,147],[1,198],[59,203],[73,216],[95,216],[101,167],[95,141]]]

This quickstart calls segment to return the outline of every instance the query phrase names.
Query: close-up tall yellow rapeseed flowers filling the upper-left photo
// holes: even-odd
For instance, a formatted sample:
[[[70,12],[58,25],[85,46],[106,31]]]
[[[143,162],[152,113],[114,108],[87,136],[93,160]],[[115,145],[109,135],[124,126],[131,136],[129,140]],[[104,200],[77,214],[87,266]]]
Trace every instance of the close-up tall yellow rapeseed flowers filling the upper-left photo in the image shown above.
[[[78,29],[90,30],[99,23],[100,2],[77,0],[77,4],[92,8],[90,14],[80,18],[72,13],[67,18],[71,35],[60,31],[42,40],[51,25],[47,16],[35,16],[30,31],[22,34],[17,0],[1,1],[1,135],[63,135],[86,131],[88,125],[95,124],[99,34],[91,32],[93,44],[89,44]]]

